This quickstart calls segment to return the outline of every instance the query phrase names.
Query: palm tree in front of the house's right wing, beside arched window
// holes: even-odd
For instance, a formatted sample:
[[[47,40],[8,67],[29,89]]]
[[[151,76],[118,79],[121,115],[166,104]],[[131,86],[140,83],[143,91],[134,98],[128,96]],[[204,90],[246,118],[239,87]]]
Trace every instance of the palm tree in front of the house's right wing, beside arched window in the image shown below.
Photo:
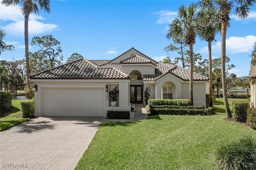
[[[167,39],[185,35],[185,43],[189,45],[190,56],[190,80],[189,80],[189,100],[193,105],[193,44],[196,42],[196,20],[197,20],[197,5],[192,3],[187,8],[180,6],[178,15],[169,25],[169,30],[166,35]]]

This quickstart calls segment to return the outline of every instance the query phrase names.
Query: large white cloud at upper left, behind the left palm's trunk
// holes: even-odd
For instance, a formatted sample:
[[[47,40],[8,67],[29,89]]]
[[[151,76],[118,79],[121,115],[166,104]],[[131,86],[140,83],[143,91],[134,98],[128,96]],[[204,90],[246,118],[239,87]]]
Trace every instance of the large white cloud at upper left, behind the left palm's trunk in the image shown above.
[[[2,21],[11,21],[11,23],[8,23],[7,25],[2,25],[6,34],[13,36],[24,35],[24,16],[22,16],[19,6],[1,6],[0,15]],[[28,21],[29,35],[50,32],[58,27],[56,24],[43,23],[37,20],[44,20],[44,18],[42,16],[30,14]]]

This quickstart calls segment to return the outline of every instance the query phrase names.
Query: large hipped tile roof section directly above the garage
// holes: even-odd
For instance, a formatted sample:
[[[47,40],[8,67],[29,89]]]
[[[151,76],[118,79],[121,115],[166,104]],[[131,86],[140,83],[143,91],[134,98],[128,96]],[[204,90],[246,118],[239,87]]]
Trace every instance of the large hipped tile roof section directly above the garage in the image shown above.
[[[128,79],[124,72],[113,67],[97,66],[86,60],[75,60],[61,66],[30,75],[31,79]]]

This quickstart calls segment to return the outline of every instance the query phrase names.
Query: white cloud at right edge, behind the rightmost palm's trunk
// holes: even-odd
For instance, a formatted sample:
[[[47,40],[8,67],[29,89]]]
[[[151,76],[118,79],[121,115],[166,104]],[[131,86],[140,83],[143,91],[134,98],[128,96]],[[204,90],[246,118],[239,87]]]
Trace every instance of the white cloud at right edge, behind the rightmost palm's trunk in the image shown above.
[[[250,53],[253,49],[256,36],[247,35],[246,37],[229,37],[226,39],[226,54]],[[208,53],[208,47],[202,47],[200,53]],[[212,45],[212,52],[221,51],[221,41]]]

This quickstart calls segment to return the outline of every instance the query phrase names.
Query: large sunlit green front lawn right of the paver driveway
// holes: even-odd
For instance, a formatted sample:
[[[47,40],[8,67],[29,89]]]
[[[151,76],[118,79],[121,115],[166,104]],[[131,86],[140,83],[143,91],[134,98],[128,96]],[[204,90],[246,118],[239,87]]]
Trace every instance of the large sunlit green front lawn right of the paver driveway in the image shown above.
[[[226,113],[156,115],[136,122],[102,123],[75,169],[218,170],[212,162],[218,145],[256,136],[255,130],[225,118]]]

